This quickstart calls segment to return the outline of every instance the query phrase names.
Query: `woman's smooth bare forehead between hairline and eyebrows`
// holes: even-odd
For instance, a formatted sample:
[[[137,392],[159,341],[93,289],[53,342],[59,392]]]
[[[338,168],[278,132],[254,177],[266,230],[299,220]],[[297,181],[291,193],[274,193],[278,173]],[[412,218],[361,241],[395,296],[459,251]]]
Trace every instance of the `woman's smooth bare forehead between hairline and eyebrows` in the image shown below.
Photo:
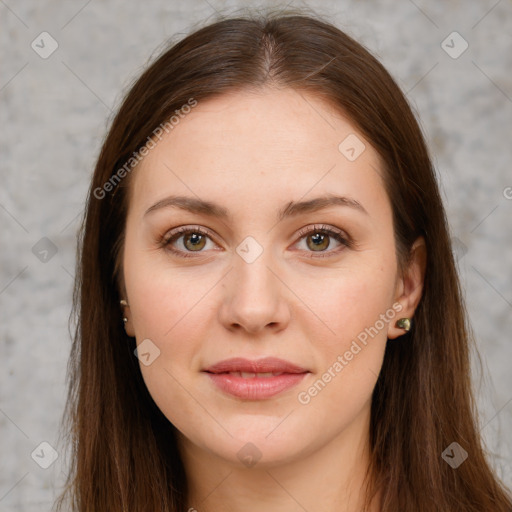
[[[347,144],[356,159],[347,158],[354,155]],[[385,200],[380,169],[369,141],[319,97],[292,89],[241,91],[199,102],[180,117],[135,170],[131,209],[169,194],[249,201],[259,209],[271,198],[282,203],[283,195],[325,192],[378,203]]]

